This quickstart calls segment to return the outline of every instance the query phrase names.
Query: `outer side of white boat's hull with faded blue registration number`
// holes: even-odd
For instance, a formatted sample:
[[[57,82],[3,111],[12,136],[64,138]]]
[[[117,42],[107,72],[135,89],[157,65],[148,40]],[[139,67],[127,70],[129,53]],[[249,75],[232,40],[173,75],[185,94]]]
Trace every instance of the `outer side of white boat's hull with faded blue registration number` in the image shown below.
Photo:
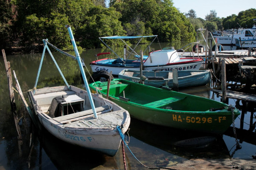
[[[38,119],[41,125],[52,135],[67,143],[96,150],[110,156],[114,156],[119,149],[121,138],[117,130],[67,129],[57,122],[45,119],[43,113],[40,112],[38,112]]]

